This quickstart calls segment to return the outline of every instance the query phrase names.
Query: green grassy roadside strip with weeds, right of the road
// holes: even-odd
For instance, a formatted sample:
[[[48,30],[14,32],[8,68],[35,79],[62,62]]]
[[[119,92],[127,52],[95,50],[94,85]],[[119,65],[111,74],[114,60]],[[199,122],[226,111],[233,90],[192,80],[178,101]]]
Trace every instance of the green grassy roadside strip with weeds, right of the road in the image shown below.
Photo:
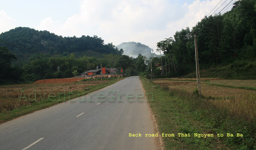
[[[255,113],[252,113],[252,110],[244,111],[244,107],[235,108],[238,106],[232,104],[235,99],[231,98],[225,101],[225,98],[209,100],[208,98],[198,97],[198,95],[193,94],[196,84],[189,86],[190,91],[184,89],[187,85],[194,84],[193,81],[180,81],[186,82],[181,87],[177,81],[172,81],[174,83],[168,86],[161,86],[154,82],[147,84],[146,80],[141,79],[145,91],[154,94],[154,101],[149,101],[149,103],[157,119],[160,133],[175,135],[174,137],[162,137],[166,149],[256,148]],[[156,89],[152,88],[153,86],[156,86]],[[173,88],[173,86],[179,88]],[[210,85],[205,84],[205,86]],[[215,86],[212,87],[216,88]],[[204,89],[207,88],[209,87],[204,87]],[[211,89],[207,90],[210,92]],[[204,93],[204,91],[202,92]],[[245,107],[255,108],[256,97],[254,94],[248,94],[247,97],[242,98],[247,101],[239,103],[242,103]],[[233,105],[232,109],[234,110],[228,108],[231,105]],[[252,114],[244,117],[245,115],[240,112],[251,112]],[[178,136],[178,133],[189,134],[190,137]],[[198,138],[194,136],[195,133],[210,134],[210,136],[213,134],[214,137]],[[233,134],[233,137],[228,137],[228,133]],[[237,133],[243,134],[243,136],[237,137]],[[222,137],[221,134],[223,134]]]

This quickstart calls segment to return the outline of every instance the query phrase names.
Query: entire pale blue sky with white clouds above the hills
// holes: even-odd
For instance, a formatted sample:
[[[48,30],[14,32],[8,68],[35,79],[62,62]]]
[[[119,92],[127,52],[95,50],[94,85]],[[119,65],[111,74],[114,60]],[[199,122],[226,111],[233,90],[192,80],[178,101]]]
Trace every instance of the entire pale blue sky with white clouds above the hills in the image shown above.
[[[0,33],[21,26],[63,37],[97,35],[106,44],[135,41],[157,53],[157,42],[192,29],[220,1],[0,0]],[[216,13],[230,1],[219,3],[215,10],[224,4]]]

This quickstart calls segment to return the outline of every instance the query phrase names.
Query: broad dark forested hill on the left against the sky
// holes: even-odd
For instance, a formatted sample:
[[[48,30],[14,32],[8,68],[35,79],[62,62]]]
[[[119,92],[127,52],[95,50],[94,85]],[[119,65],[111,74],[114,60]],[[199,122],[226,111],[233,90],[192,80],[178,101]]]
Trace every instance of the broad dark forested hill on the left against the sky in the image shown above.
[[[6,45],[10,52],[18,57],[19,66],[26,63],[30,56],[35,53],[44,53],[49,55],[69,55],[74,53],[76,57],[87,55],[101,57],[103,54],[118,54],[112,43],[105,44],[102,38],[97,36],[81,36],[77,38],[62,37],[50,33],[49,31],[38,31],[31,28],[18,27],[0,34],[0,40],[10,42],[24,47],[26,50],[0,42],[0,46]]]

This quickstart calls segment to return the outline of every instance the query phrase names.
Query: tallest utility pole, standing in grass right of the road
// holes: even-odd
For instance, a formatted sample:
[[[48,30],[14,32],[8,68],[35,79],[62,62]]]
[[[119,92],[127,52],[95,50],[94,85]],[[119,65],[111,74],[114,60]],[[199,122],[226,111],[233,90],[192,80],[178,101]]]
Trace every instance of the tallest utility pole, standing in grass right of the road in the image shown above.
[[[199,62],[198,62],[198,50],[197,50],[197,41],[196,41],[196,33],[194,32],[194,38],[195,38],[195,56],[196,56],[196,85],[197,90],[201,93],[201,80],[200,80],[200,70],[199,70]]]

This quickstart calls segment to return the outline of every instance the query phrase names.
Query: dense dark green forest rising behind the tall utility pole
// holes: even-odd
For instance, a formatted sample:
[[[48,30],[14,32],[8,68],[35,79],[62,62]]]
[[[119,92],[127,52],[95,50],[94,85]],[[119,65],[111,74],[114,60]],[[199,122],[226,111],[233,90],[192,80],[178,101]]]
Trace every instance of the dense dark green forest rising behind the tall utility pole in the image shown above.
[[[185,28],[173,37],[159,41],[158,51],[164,55],[164,75],[166,72],[168,76],[195,72],[196,35],[202,76],[256,79],[255,22],[256,1],[239,0],[233,4],[231,11],[205,16],[192,30]],[[165,59],[168,61],[165,62]],[[195,73],[190,77],[195,77]]]

